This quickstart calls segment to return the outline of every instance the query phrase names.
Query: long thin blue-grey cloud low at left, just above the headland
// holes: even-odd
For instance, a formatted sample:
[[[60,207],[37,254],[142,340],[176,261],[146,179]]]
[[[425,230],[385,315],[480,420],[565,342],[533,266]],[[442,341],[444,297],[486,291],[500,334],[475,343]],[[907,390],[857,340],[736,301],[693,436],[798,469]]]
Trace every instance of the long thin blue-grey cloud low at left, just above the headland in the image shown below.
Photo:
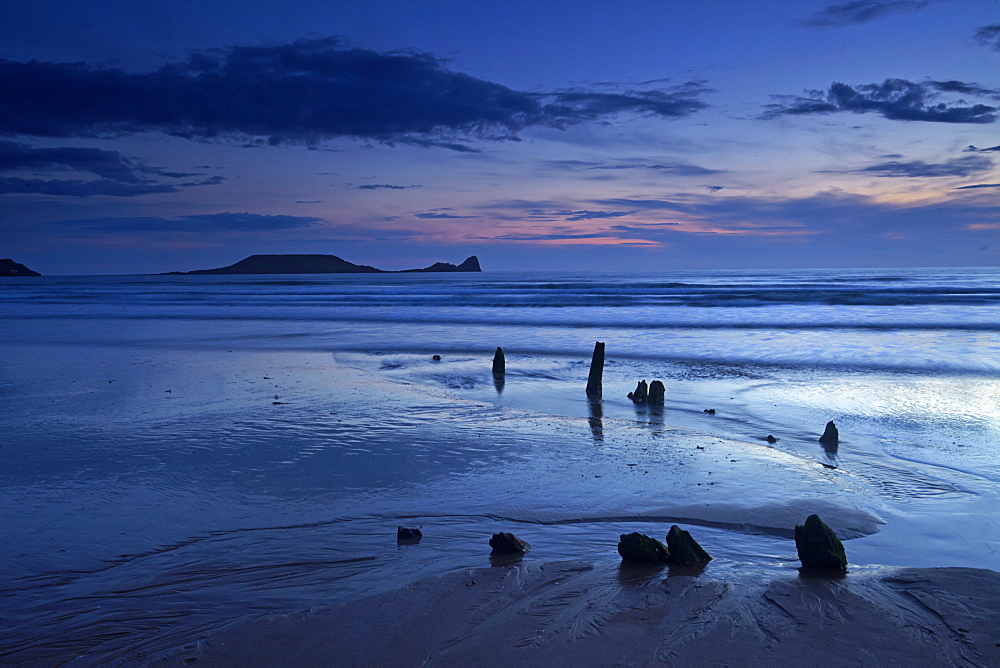
[[[176,218],[118,216],[55,220],[50,225],[91,232],[145,234],[151,232],[266,232],[309,227],[321,222],[313,216],[267,216],[256,213],[208,213]]]

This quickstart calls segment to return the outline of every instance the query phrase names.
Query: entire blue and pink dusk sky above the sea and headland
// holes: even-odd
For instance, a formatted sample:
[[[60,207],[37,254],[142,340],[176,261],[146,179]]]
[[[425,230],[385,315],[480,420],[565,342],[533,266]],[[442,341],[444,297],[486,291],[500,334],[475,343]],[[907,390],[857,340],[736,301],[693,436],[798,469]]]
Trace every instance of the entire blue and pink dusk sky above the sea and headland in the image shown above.
[[[997,0],[0,3],[0,257],[1000,265]]]

